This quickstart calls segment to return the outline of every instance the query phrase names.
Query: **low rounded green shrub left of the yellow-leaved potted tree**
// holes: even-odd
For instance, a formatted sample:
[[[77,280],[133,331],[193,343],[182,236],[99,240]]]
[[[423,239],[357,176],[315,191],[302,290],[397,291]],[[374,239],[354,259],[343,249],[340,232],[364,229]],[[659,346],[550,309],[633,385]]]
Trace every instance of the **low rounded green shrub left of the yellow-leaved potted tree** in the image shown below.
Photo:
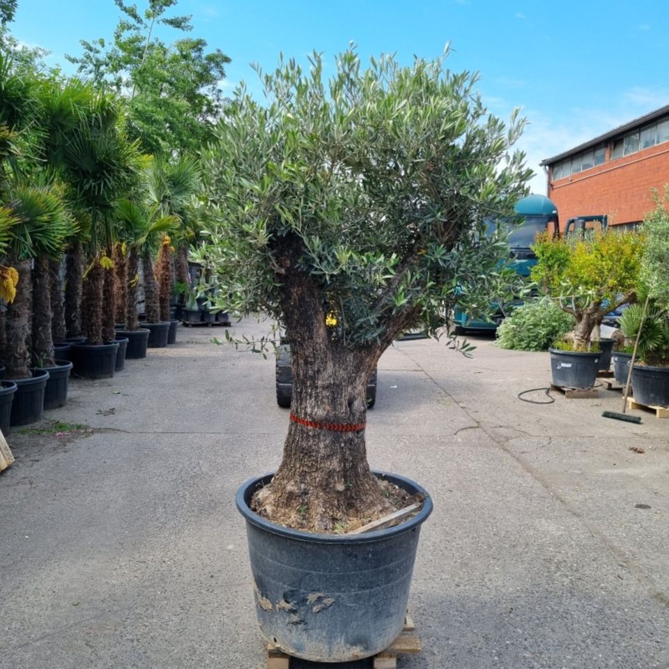
[[[546,351],[553,341],[574,328],[574,317],[548,298],[526,302],[497,328],[501,348],[516,351]]]

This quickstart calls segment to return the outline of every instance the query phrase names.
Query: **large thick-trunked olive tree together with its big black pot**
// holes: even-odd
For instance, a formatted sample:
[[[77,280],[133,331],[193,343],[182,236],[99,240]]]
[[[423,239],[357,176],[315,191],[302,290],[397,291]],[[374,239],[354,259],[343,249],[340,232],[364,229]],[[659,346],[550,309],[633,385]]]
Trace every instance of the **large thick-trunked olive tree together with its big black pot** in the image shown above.
[[[264,77],[266,106],[237,91],[203,157],[208,243],[192,259],[225,306],[270,314],[291,341],[283,461],[237,497],[261,630],[289,654],[346,661],[401,631],[432,508],[419,484],[370,470],[367,379],[401,332],[438,334],[456,292],[498,294],[508,247],[485,221],[513,215],[530,171],[509,152],[523,122],[490,116],[469,72],[389,56],[363,70],[349,50],[326,83],[311,62]],[[354,534],[394,512],[387,486],[420,512]]]

